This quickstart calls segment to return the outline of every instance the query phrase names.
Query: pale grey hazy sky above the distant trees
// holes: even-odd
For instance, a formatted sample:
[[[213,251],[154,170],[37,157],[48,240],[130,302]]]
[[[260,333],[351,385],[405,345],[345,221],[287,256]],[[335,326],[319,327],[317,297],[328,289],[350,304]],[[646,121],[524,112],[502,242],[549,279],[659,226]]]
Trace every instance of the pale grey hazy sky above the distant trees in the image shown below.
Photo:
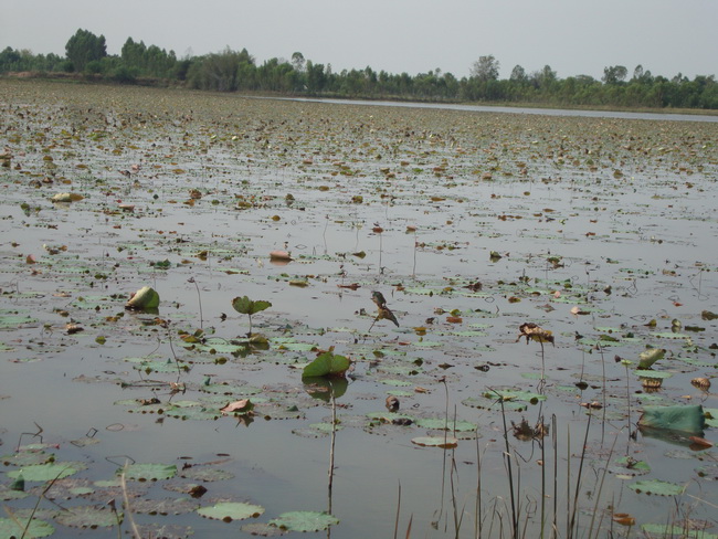
[[[718,75],[718,0],[3,0],[0,49],[64,55],[80,28],[119,54],[128,36],[181,57],[245,47],[258,64],[299,51],[335,72],[467,76],[481,55],[561,78],[637,64]]]

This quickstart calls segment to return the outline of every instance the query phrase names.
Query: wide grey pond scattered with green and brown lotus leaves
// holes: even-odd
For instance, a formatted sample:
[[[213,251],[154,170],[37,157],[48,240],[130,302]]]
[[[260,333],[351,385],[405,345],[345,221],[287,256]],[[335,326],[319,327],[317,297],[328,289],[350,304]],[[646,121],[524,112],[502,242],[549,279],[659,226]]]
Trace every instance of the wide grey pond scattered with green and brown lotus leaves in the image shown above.
[[[0,114],[0,538],[718,537],[718,123]]]

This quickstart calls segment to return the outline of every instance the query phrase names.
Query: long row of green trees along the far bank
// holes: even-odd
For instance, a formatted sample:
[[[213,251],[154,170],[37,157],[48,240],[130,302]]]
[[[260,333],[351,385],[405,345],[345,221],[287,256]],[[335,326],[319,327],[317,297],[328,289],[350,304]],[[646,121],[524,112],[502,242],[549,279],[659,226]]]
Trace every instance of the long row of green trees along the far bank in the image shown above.
[[[107,54],[103,35],[77,30],[65,45],[65,56],[32,54],[7,47],[0,52],[0,73],[75,73],[122,84],[182,85],[218,92],[263,92],[285,95],[370,99],[521,103],[551,106],[650,107],[718,109],[715,75],[693,81],[677,74],[654,76],[638,65],[629,77],[621,65],[606,66],[599,81],[588,75],[559,78],[546,65],[527,73],[517,65],[499,80],[499,62],[481,56],[468,77],[456,78],[441,70],[392,74],[363,70],[335,73],[331,65],[305,60],[272,59],[258,64],[243,49],[178,59],[173,51],[145,45],[128,38],[119,55]]]

